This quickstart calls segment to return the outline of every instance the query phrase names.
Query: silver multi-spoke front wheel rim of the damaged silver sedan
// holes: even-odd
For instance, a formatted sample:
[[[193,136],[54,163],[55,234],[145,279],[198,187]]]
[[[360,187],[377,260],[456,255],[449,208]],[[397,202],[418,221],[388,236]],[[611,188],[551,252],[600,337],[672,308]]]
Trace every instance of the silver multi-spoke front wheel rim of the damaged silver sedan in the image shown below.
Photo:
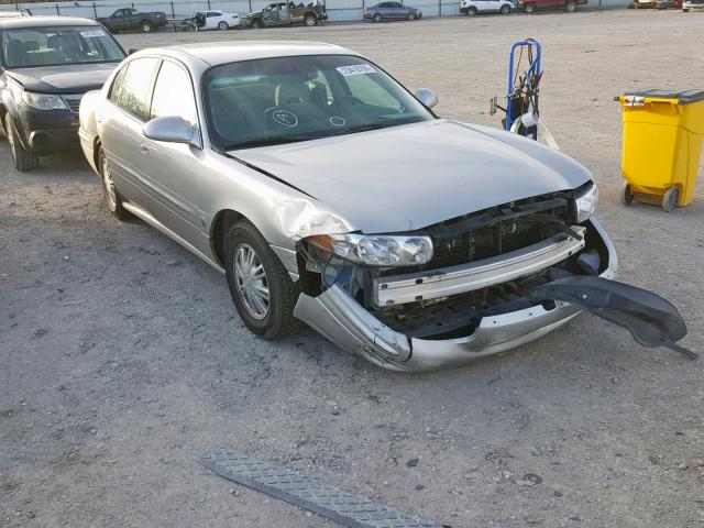
[[[240,244],[234,251],[234,277],[238,292],[246,311],[254,319],[268,315],[268,278],[260,256],[249,244]]]

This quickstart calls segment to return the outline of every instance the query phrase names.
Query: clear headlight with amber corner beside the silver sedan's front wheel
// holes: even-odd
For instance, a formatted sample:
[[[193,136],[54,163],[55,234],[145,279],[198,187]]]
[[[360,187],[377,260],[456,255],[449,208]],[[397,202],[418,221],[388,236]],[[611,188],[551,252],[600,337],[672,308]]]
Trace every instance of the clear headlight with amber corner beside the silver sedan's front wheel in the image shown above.
[[[414,266],[432,258],[430,237],[323,234],[306,239],[340,258],[367,266]]]

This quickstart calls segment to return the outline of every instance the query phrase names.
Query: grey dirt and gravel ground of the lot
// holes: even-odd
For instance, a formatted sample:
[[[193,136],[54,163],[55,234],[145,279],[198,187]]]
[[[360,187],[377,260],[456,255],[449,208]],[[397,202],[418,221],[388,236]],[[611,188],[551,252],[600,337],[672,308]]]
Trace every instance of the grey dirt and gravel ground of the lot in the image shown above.
[[[542,116],[598,182],[620,278],[673,301],[704,349],[704,197],[618,204],[630,88],[704,88],[704,16],[477,16],[199,34],[129,46],[316,40],[369,55],[439,113],[497,123],[512,42],[544,46]],[[431,175],[429,175],[431,177]],[[702,182],[700,182],[701,184]],[[120,223],[79,154],[20,174],[0,145],[0,526],[318,528],[198,464],[227,446],[452,527],[704,522],[704,362],[583,315],[512,353],[383,372],[316,334],[264,342],[223,276]],[[419,459],[409,468],[409,459]],[[539,475],[526,485],[525,475]]]

